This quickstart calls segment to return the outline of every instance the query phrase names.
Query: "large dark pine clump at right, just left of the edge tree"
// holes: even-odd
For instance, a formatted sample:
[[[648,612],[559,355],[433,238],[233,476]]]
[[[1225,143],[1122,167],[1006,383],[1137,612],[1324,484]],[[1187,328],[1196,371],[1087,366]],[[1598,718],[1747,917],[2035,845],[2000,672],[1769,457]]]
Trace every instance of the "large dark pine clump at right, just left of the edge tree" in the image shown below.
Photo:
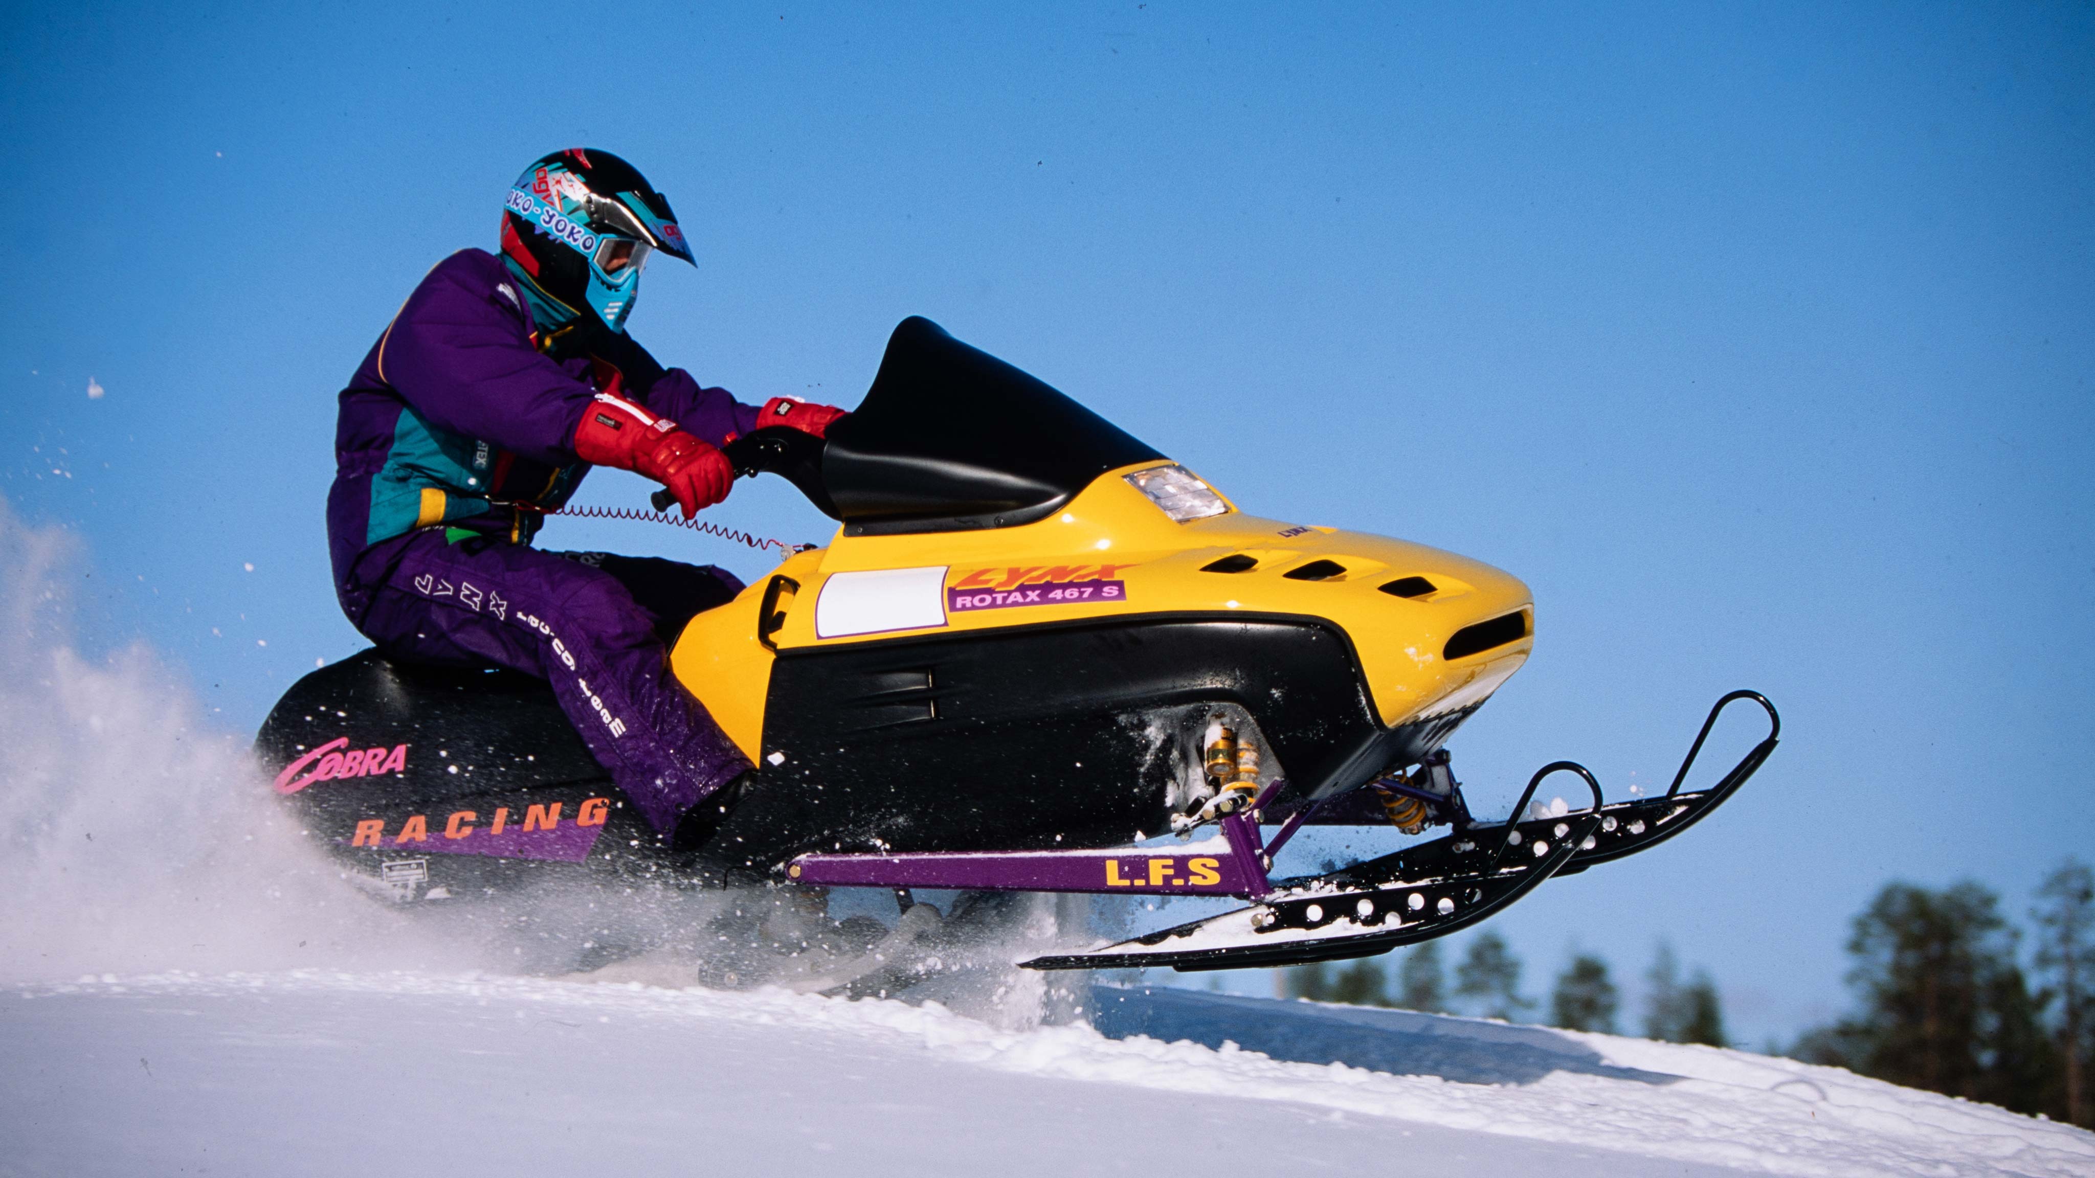
[[[1860,1010],[1804,1035],[1800,1059],[2041,1111],[2055,1056],[1990,891],[1886,885],[1854,918],[1848,954]]]

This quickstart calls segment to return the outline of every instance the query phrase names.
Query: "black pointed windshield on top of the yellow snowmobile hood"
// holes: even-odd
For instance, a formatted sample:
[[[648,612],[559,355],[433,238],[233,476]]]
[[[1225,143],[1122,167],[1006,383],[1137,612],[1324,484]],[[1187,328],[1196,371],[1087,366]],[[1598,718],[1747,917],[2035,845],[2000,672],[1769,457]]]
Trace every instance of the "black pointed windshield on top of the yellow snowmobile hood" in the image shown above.
[[[1100,474],[1165,455],[928,319],[888,337],[874,388],[830,428],[821,482],[846,535],[1031,524]]]

